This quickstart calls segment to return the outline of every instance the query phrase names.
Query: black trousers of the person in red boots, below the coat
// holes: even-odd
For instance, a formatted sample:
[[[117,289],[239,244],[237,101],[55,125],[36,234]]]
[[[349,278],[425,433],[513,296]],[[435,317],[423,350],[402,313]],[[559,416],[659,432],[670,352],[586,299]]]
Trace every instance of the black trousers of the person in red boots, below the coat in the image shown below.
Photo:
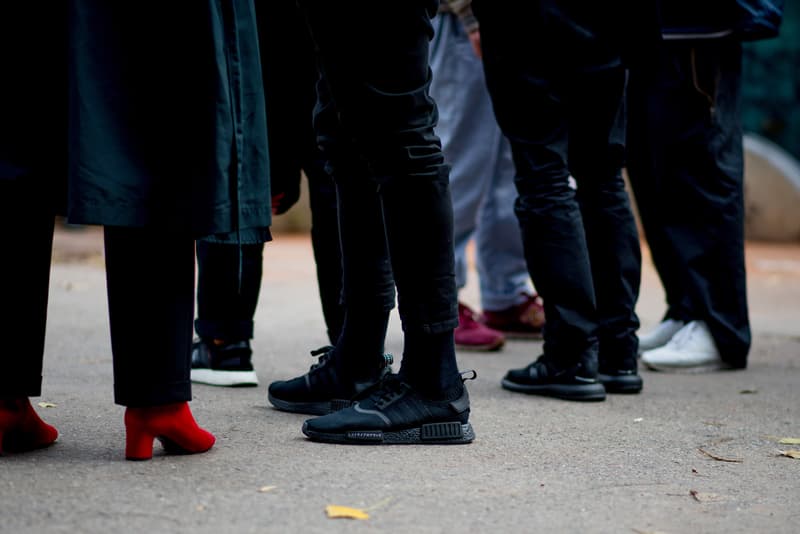
[[[28,176],[0,181],[0,225],[8,233],[0,272],[0,397],[41,394],[55,218],[41,183]],[[115,402],[190,400],[192,239],[108,227],[105,247]]]

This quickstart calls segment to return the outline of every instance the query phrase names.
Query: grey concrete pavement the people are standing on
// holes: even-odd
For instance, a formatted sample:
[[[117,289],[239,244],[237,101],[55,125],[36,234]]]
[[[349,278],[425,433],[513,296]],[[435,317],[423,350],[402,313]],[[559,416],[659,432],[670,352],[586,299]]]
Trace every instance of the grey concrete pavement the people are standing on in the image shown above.
[[[459,355],[477,434],[468,446],[346,447],[307,441],[301,415],[271,409],[266,385],[326,344],[310,243],[267,245],[256,315],[261,385],[194,386],[192,409],[217,436],[207,454],[123,458],[112,398],[102,254],[96,229],[59,232],[44,395],[61,436],[0,458],[0,532],[797,532],[800,460],[800,246],[748,245],[754,344],[741,372],[642,371],[645,388],[580,404],[504,391],[539,342]],[[474,279],[463,294],[478,304]],[[663,313],[645,257],[639,314]],[[146,332],[147,318],[142,318]],[[387,350],[402,353],[392,318]],[[704,452],[701,451],[701,449]],[[325,507],[364,508],[365,521]]]

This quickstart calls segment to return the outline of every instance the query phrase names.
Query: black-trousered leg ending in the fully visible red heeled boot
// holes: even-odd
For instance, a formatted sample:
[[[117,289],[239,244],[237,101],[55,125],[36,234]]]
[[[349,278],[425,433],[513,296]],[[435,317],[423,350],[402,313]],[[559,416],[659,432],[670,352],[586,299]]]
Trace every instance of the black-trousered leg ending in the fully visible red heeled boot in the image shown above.
[[[197,426],[191,400],[194,242],[159,230],[105,228],[114,398],[126,406],[126,457],[204,452],[214,436]]]

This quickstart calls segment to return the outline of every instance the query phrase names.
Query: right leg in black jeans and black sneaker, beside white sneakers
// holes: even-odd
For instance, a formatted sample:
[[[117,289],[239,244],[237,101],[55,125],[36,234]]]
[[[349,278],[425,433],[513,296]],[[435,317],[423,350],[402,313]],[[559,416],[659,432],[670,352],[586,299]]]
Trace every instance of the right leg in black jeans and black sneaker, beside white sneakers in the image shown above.
[[[624,86],[622,68],[584,73],[571,84],[569,161],[597,298],[600,380],[608,391],[636,393],[641,252],[621,174]]]

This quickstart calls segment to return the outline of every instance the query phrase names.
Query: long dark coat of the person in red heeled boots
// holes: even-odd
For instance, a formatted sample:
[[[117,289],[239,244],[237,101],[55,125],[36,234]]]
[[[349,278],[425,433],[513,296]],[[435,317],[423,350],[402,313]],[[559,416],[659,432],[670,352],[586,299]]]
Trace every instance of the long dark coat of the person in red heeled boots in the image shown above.
[[[75,223],[265,239],[252,0],[69,0],[47,13],[10,4],[0,9],[0,179],[58,192],[68,175]]]

